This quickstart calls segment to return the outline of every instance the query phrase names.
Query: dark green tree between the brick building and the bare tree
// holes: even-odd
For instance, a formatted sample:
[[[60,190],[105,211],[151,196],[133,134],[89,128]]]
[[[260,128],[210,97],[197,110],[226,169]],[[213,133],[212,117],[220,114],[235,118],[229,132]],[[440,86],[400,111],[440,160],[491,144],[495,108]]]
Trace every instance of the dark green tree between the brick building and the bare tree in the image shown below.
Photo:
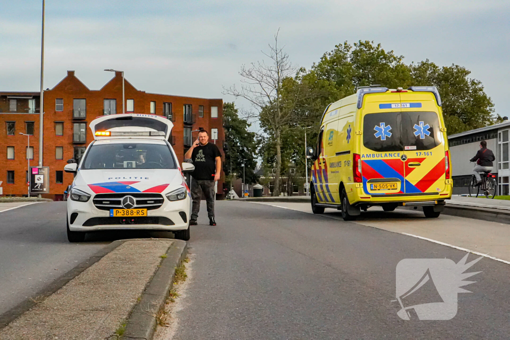
[[[247,120],[239,118],[238,109],[234,102],[223,103],[223,125],[225,142],[228,151],[225,152],[223,169],[227,179],[243,177],[243,159],[245,164],[246,183],[257,182],[258,176],[254,173],[257,166],[256,152],[258,140],[253,132],[248,131],[250,124]],[[228,182],[230,184],[230,182]]]

